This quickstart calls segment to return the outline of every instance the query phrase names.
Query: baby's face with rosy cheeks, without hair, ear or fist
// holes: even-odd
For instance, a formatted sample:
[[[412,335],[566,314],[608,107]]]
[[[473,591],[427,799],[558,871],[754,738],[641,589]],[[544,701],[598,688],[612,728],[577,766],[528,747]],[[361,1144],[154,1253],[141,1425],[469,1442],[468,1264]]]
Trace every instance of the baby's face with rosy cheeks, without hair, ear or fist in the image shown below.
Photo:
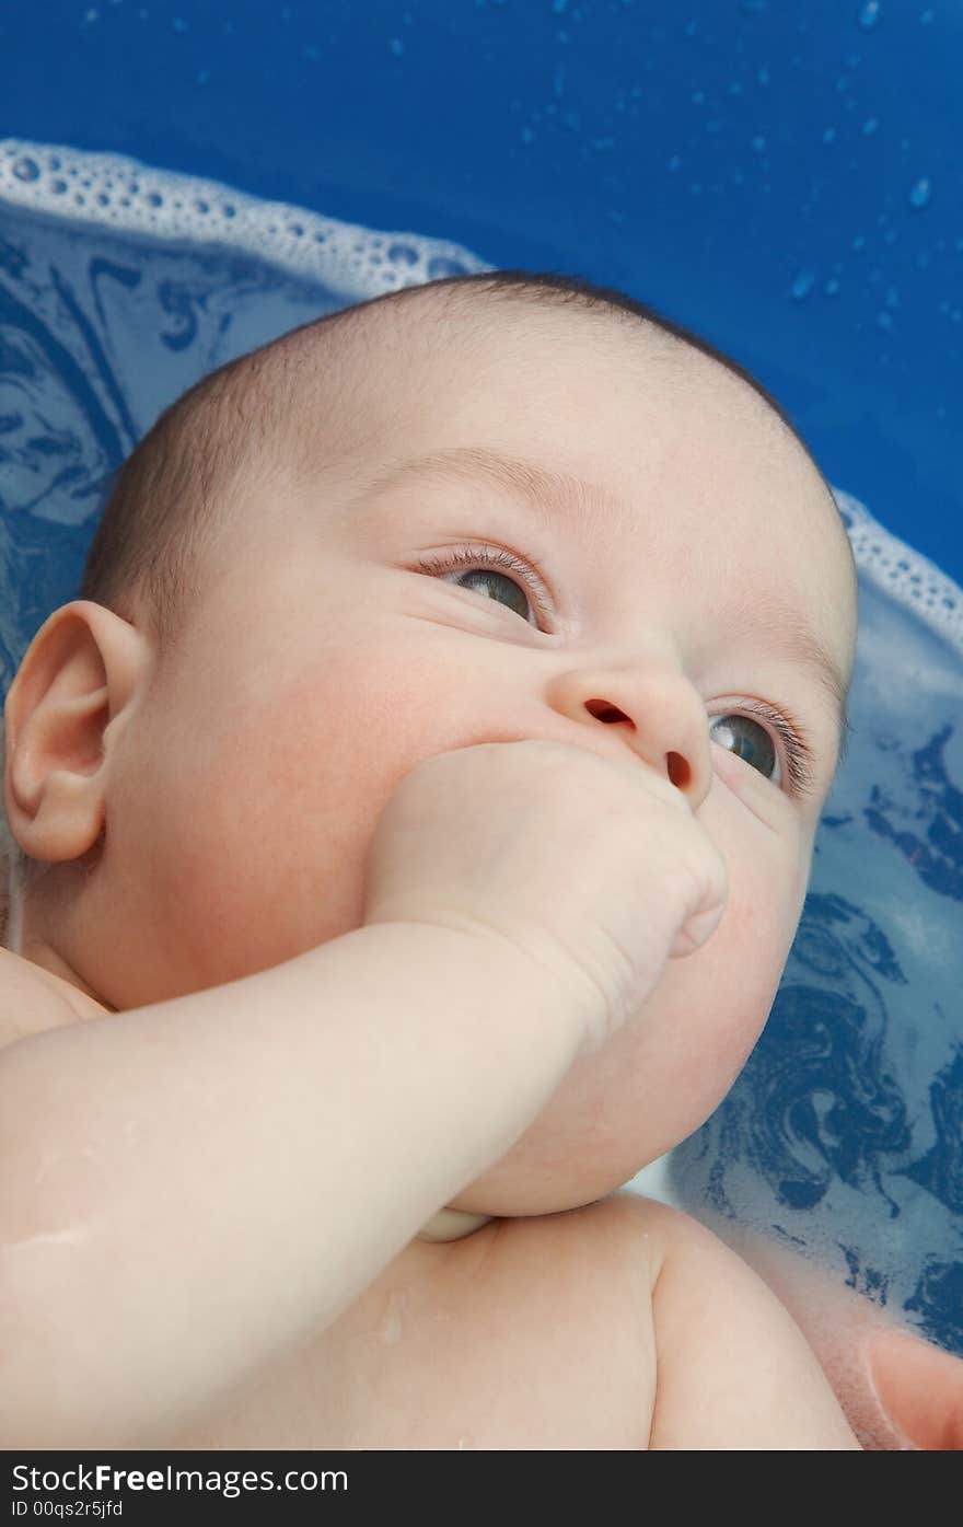
[[[362,921],[378,814],[421,759],[523,738],[632,757],[653,684],[681,712],[696,696],[713,777],[693,806],[728,867],[723,919],[456,1200],[569,1208],[691,1133],[769,1012],[839,730],[792,640],[810,631],[849,678],[845,534],[745,383],[639,330],[499,319],[467,351],[386,357],[385,377],[349,469],[295,479],[273,464],[252,484],[237,553],[124,733],[108,849],[142,872],[124,878],[110,942],[95,941],[81,974],[134,1006],[337,938]],[[418,466],[440,454],[458,470]],[[546,484],[536,507],[496,458],[581,479],[585,495]],[[464,548],[510,551],[530,586],[519,570],[465,571],[475,554],[441,576],[421,568]],[[556,681],[580,673],[586,699],[609,699],[635,730],[559,705]],[[812,748],[809,794],[774,712]]]

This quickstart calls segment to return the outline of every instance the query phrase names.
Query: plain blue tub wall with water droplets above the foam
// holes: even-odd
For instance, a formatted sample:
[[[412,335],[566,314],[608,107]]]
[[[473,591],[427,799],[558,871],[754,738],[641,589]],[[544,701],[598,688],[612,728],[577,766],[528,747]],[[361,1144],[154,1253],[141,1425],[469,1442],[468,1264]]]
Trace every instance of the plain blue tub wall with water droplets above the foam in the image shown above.
[[[963,582],[957,0],[0,3],[0,131],[620,286]]]

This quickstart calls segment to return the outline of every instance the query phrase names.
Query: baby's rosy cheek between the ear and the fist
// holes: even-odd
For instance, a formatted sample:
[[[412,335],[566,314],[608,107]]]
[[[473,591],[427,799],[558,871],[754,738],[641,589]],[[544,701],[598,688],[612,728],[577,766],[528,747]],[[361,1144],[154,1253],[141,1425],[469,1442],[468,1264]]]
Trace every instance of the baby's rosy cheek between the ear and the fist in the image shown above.
[[[388,797],[421,759],[470,741],[458,683],[360,649],[208,715],[162,849],[195,979],[240,979],[360,924]]]

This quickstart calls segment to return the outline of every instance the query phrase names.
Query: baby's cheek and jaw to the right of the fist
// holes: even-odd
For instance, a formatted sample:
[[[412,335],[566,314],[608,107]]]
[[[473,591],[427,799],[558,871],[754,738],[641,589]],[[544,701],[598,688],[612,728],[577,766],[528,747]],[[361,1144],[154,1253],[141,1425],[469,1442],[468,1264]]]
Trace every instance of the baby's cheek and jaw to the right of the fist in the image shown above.
[[[713,938],[665,965],[646,1009],[604,1051],[575,1063],[462,1208],[545,1212],[585,1203],[678,1145],[722,1101],[762,1032],[795,925],[789,840],[763,837],[743,806],[734,805],[726,826],[742,837],[726,852],[716,826],[729,901]]]

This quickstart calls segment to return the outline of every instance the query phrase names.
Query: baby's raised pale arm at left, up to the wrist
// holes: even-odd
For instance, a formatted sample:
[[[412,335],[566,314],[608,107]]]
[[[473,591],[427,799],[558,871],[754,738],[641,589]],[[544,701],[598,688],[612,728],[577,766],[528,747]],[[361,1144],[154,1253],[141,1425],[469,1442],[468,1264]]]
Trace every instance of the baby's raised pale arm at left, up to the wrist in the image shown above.
[[[157,1445],[331,1322],[549,1099],[566,1008],[382,922],[0,1051],[0,1445]]]

